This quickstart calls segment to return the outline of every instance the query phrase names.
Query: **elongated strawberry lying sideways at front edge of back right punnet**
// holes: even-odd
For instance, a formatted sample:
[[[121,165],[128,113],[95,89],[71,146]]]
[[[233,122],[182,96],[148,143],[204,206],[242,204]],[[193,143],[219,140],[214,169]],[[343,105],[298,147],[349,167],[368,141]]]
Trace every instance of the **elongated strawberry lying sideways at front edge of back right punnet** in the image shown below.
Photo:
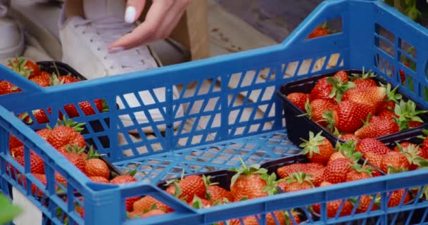
[[[355,135],[359,139],[374,139],[379,136],[395,134],[398,130],[398,124],[393,120],[379,119],[361,127],[355,131]]]

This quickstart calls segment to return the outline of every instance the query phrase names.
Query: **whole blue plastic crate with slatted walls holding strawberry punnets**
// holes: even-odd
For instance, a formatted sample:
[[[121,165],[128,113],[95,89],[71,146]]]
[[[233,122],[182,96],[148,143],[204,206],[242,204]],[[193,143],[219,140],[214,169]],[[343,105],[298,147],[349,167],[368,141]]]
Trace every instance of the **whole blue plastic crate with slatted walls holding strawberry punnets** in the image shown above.
[[[336,19],[341,21],[340,32],[327,37],[306,39],[317,25],[325,20]],[[401,84],[398,70],[403,70],[408,77],[401,84],[401,90],[427,107],[428,103],[424,101],[428,87],[427,39],[428,32],[424,27],[405,18],[383,1],[329,0],[320,4],[282,44],[253,51],[46,89],[1,67],[0,79],[7,79],[24,90],[0,96],[1,191],[9,194],[8,184],[11,184],[27,195],[42,210],[44,224],[63,224],[65,214],[69,224],[213,224],[217,221],[261,214],[260,224],[264,224],[267,212],[294,208],[303,209],[308,222],[313,224],[352,224],[351,221],[362,221],[363,224],[371,224],[373,221],[375,224],[410,224],[410,219],[415,222],[411,217],[415,210],[420,213],[422,209],[424,215],[427,214],[428,204],[413,201],[398,207],[386,207],[388,193],[403,188],[409,191],[409,188],[427,185],[427,170],[298,193],[282,193],[203,210],[192,209],[153,184],[178,176],[183,169],[186,174],[195,174],[238,167],[239,158],[248,164],[262,164],[298,153],[300,150],[287,139],[282,102],[274,93],[282,84],[304,77],[342,68],[364,67],[398,85]],[[417,57],[416,54],[405,53],[408,46],[415,47]],[[337,55],[339,57],[334,60],[334,68],[327,67],[327,62]],[[415,71],[401,63],[402,56],[415,61]],[[262,74],[266,79],[260,78]],[[180,91],[179,98],[172,95],[173,85],[184,90]],[[193,88],[190,88],[191,85],[194,85]],[[139,91],[161,88],[164,88],[166,101],[144,105],[144,99],[140,98],[140,107],[115,107],[118,99],[125,101],[126,94],[134,94],[139,98]],[[151,94],[154,94],[153,91]],[[95,132],[88,127],[89,133],[85,134],[85,138],[91,139],[99,153],[106,154],[108,160],[120,169],[137,169],[140,182],[114,187],[90,182],[82,172],[34,132],[34,129],[45,127],[46,124],[27,127],[15,117],[19,113],[37,109],[51,108],[52,112],[64,112],[63,105],[76,105],[98,98],[106,100],[109,112],[80,116],[75,120],[101,122],[103,131]],[[215,103],[215,107],[208,108],[208,102]],[[185,113],[184,116],[177,117],[180,105],[185,109]],[[138,124],[134,118],[132,127],[125,127],[119,120],[120,115],[133,117],[134,113],[148,113],[153,109],[163,113],[163,120]],[[244,110],[250,110],[252,113],[244,113]],[[50,119],[54,122],[57,118],[58,115],[54,113]],[[104,122],[106,118],[110,119],[110,124]],[[181,122],[180,126],[173,129],[172,124],[177,122]],[[184,129],[186,123],[190,129]],[[160,132],[158,126],[167,129]],[[147,127],[153,129],[153,135],[141,131]],[[128,134],[128,131],[134,129],[139,130],[141,140],[135,141]],[[46,186],[34,179],[29,167],[20,167],[11,158],[7,144],[9,134],[17,136],[25,143],[27,162],[29,149],[43,158]],[[99,139],[105,136],[108,136],[110,141],[108,148],[104,148]],[[119,139],[124,139],[127,144],[119,146]],[[8,165],[17,167],[21,174],[25,174],[27,186],[22,186],[22,181],[14,179],[8,173]],[[56,195],[54,172],[60,173],[68,181],[66,188],[60,187],[67,193],[66,203]],[[43,195],[32,195],[30,184],[38,186]],[[83,201],[73,195],[75,191],[81,193]],[[354,208],[349,216],[336,215],[334,218],[327,218],[328,201],[377,193],[382,200],[380,210],[355,214]],[[152,195],[170,205],[175,212],[144,220],[127,220],[125,198],[135,195]],[[74,211],[74,203],[84,206],[84,219]],[[318,221],[310,217],[308,210],[308,206],[316,203],[321,203]],[[58,217],[58,208],[65,214]]]

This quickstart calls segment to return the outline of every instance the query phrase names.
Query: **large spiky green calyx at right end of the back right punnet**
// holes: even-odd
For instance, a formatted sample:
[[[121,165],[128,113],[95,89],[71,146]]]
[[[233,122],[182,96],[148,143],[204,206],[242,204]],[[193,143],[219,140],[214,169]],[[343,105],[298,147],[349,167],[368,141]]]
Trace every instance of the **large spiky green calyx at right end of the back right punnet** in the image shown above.
[[[394,113],[398,116],[394,120],[398,124],[400,131],[402,131],[410,128],[409,122],[423,123],[424,121],[418,115],[427,112],[428,110],[416,110],[416,103],[411,100],[407,102],[401,100],[394,108]]]

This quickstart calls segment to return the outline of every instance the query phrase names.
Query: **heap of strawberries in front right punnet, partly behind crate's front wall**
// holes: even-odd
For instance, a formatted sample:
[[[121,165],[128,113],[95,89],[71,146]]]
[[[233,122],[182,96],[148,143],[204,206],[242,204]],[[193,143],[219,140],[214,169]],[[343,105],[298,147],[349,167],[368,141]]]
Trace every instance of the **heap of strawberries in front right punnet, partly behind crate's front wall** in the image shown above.
[[[410,147],[403,147],[390,150],[384,143],[376,139],[362,139],[360,141],[348,141],[346,143],[336,143],[335,148],[332,143],[321,132],[313,134],[310,132],[310,138],[303,140],[302,154],[308,157],[307,163],[294,163],[279,167],[277,174],[281,180],[277,181],[279,188],[283,191],[300,191],[318,186],[329,186],[348,181],[357,181],[369,179],[374,176],[391,174],[394,172],[405,171],[410,169],[410,165],[415,168],[420,165],[426,165],[426,160],[420,159],[422,155],[428,155],[428,151],[420,150],[410,153]],[[428,139],[427,139],[428,140]],[[428,143],[428,142],[427,142]],[[402,143],[402,146],[410,146]],[[428,150],[428,148],[427,148]],[[380,155],[382,152],[383,155]],[[419,156],[415,157],[415,154]],[[412,160],[418,158],[417,160]],[[365,158],[363,165],[359,162]],[[370,165],[368,162],[371,162]],[[413,163],[414,164],[413,164]],[[419,162],[419,164],[417,163]],[[379,171],[379,168],[382,171]],[[363,195],[358,201],[355,213],[367,212],[367,210],[378,210],[378,195]],[[346,216],[351,214],[358,198],[346,200],[334,200],[327,203],[327,216],[335,217],[336,214]],[[396,207],[403,200],[403,204],[412,200],[412,195],[405,189],[392,191],[389,193],[388,207]],[[345,202],[343,202],[345,201]],[[339,207],[341,211],[339,211]],[[372,205],[372,207],[370,207]],[[320,214],[320,205],[313,205],[313,212]]]

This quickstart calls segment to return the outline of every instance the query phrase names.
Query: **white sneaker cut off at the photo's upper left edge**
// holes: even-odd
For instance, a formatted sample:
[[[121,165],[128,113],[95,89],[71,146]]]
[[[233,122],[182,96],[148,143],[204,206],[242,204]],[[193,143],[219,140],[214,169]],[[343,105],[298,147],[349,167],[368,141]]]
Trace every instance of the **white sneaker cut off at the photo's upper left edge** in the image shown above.
[[[24,33],[15,21],[6,18],[7,8],[0,4],[0,60],[21,56],[24,51]]]

